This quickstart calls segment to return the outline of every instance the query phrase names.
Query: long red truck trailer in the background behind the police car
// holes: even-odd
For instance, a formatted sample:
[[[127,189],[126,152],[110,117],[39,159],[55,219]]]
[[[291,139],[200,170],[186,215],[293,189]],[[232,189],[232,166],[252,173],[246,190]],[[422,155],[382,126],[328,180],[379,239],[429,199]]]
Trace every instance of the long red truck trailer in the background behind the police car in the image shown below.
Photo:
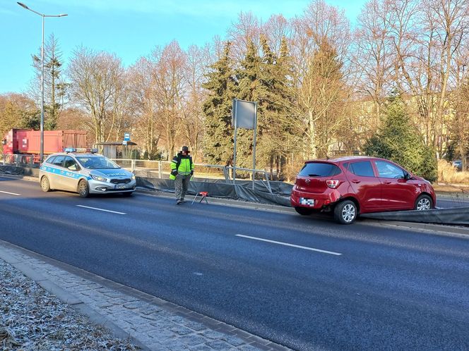
[[[6,133],[2,144],[4,144],[6,155],[34,155],[34,161],[39,162],[40,130],[12,129]],[[86,147],[86,132],[84,130],[44,130],[44,155],[64,151],[66,147]]]

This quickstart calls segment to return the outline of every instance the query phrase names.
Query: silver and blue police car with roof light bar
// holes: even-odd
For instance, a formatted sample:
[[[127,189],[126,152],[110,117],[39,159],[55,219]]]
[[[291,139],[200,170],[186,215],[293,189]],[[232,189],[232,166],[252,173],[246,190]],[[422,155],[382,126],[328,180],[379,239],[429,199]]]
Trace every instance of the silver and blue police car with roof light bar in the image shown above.
[[[78,151],[84,152],[65,149],[47,157],[39,171],[42,191],[68,190],[81,197],[109,192],[132,195],[136,186],[133,173],[96,154],[97,149]]]

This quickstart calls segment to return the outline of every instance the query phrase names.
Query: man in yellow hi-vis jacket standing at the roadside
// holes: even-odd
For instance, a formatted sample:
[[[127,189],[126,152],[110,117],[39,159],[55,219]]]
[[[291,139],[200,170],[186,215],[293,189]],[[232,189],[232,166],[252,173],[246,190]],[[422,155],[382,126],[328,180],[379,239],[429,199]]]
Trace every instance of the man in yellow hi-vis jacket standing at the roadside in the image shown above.
[[[189,156],[189,147],[182,147],[181,152],[173,157],[171,161],[170,179],[174,179],[174,190],[176,190],[176,204],[184,202],[191,176],[194,174],[194,164]]]

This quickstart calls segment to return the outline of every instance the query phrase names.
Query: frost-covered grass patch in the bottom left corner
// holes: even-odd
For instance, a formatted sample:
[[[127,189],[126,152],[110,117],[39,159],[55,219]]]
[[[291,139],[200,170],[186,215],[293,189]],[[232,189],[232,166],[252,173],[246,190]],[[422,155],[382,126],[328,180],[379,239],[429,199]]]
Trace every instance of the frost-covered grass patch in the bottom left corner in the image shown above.
[[[0,350],[138,350],[0,259]]]

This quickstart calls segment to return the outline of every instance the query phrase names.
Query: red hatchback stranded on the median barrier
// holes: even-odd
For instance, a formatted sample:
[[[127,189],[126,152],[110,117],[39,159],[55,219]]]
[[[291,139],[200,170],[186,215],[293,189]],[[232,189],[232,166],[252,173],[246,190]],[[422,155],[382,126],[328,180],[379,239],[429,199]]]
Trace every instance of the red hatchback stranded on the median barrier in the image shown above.
[[[386,159],[350,156],[305,162],[290,196],[302,215],[333,211],[336,221],[350,224],[358,214],[433,209],[432,185]]]

